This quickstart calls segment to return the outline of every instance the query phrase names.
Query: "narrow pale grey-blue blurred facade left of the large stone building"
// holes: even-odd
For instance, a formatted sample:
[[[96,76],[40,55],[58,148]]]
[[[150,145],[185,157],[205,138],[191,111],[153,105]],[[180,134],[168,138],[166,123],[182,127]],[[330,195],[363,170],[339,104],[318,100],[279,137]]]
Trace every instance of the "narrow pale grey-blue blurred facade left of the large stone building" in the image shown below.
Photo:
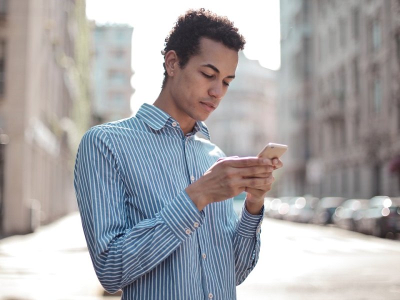
[[[312,114],[312,24],[308,1],[280,1],[281,66],[278,73],[279,135],[288,145],[284,157],[283,195],[305,193]],[[282,157],[283,158],[283,157]]]

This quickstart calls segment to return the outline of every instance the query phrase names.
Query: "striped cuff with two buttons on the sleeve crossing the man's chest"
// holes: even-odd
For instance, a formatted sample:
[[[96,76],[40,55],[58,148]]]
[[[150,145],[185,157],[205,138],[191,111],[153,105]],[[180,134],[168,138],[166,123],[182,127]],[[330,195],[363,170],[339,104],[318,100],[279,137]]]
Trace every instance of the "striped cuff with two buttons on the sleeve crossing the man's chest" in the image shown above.
[[[199,211],[185,190],[166,205],[160,215],[165,224],[183,241],[203,223],[204,212]]]

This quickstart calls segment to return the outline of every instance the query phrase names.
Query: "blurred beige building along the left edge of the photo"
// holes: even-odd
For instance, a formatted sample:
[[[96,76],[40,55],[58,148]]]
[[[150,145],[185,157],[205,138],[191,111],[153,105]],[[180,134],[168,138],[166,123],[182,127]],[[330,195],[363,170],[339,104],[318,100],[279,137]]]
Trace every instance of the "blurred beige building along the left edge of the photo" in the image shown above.
[[[76,209],[73,156],[89,118],[84,0],[0,0],[0,235]]]

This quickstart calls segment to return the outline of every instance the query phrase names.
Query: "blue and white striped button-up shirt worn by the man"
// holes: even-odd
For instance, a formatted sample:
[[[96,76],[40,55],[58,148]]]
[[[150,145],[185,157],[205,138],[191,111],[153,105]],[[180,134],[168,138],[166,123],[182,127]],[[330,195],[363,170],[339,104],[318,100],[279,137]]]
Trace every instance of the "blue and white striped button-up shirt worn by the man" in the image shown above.
[[[134,117],[82,137],[74,186],[97,277],[122,299],[236,298],[259,253],[263,215],[232,198],[199,211],[185,192],[222,151],[203,122],[184,136],[176,120],[143,104]]]

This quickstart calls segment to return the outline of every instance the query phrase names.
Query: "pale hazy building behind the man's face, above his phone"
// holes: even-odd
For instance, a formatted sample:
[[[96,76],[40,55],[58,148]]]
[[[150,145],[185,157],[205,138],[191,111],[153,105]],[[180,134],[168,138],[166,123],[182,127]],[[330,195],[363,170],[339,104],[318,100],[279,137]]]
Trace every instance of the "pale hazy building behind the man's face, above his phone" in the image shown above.
[[[211,140],[226,155],[256,155],[275,135],[275,71],[239,52],[235,79],[205,121]]]

